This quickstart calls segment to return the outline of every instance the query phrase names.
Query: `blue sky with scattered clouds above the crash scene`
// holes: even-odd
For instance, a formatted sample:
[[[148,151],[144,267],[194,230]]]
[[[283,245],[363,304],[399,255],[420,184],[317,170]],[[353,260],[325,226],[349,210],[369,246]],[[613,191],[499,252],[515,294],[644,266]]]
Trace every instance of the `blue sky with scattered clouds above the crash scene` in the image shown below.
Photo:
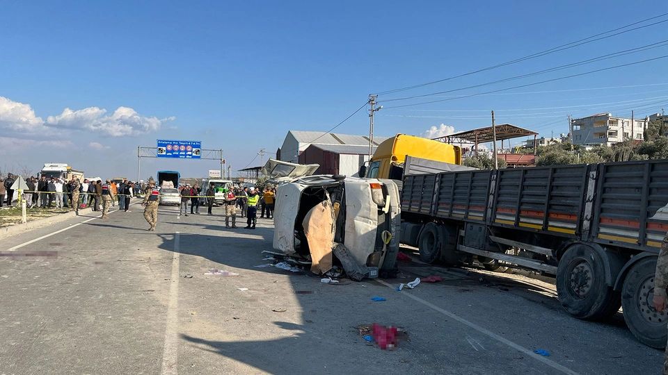
[[[260,148],[276,151],[289,129],[328,130],[369,93],[470,72],[668,12],[668,3],[659,0],[0,6],[0,168],[36,171],[42,163],[63,162],[103,176],[136,176],[136,147],[164,138],[202,140],[202,147],[223,149],[233,169],[246,167]],[[452,90],[662,40],[668,40],[668,22],[379,100]],[[665,55],[668,47],[660,47],[443,95]],[[566,133],[568,114],[657,112],[668,105],[667,73],[668,59],[662,59],[493,95],[406,108],[389,107],[418,100],[387,102],[377,113],[376,133],[486,126],[492,109],[498,122],[547,136]],[[637,87],[619,88],[632,85]],[[591,90],[603,87],[613,88]],[[368,117],[360,111],[336,131],[365,134]],[[215,162],[193,160],[142,164],[145,171],[179,169],[189,176],[216,168]]]

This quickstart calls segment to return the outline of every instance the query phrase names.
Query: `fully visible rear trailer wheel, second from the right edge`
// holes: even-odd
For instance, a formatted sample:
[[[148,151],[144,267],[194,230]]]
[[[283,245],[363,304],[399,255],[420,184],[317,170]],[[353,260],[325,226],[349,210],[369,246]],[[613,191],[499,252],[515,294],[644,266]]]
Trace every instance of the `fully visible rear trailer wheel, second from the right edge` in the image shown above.
[[[605,283],[601,253],[575,244],[559,260],[557,294],[562,307],[578,319],[597,320],[617,313],[621,296]]]

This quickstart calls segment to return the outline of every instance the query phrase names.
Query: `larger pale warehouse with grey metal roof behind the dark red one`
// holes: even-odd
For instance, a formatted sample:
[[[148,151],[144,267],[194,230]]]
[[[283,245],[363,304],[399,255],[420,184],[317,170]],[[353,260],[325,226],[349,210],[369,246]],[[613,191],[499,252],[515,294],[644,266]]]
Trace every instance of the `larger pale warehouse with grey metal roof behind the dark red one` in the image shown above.
[[[374,146],[378,146],[386,139],[388,137],[374,135]],[[312,144],[366,147],[365,151],[360,152],[360,148],[356,149],[355,153],[358,155],[369,153],[369,137],[366,135],[325,133],[323,131],[288,131],[276,156],[278,160],[299,163],[301,153]]]

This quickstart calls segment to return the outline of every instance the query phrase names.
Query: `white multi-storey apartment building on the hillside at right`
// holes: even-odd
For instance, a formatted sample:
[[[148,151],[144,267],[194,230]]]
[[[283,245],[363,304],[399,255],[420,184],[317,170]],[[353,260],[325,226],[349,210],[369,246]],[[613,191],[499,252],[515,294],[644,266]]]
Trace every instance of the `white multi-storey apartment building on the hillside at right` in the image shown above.
[[[581,119],[572,119],[573,144],[612,144],[624,140],[643,140],[647,128],[646,119],[613,117],[611,113],[598,113]]]

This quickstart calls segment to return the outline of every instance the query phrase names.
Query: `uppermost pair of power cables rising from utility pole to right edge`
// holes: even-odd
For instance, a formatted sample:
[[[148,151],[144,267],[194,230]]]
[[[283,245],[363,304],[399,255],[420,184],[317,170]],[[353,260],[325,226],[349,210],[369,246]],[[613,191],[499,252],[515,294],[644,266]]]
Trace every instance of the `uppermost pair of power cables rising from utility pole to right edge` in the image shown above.
[[[386,91],[383,91],[383,92],[377,92],[376,94],[378,94],[378,95],[381,95],[381,94],[391,94],[391,93],[393,93],[393,92],[400,92],[400,91],[405,91],[405,90],[412,90],[412,89],[414,89],[414,88],[422,88],[422,87],[427,86],[427,85],[433,85],[434,83],[440,83],[440,82],[450,81],[450,80],[452,80],[452,79],[454,79],[454,78],[461,78],[461,77],[463,77],[463,76],[470,76],[470,75],[472,75],[472,74],[477,74],[477,73],[480,73],[480,72],[485,72],[485,71],[487,71],[487,70],[496,69],[496,68],[498,68],[498,67],[504,67],[504,66],[506,66],[506,65],[512,65],[512,64],[520,63],[520,62],[522,62],[522,61],[524,61],[524,60],[530,60],[530,59],[532,59],[532,58],[538,58],[538,57],[541,57],[541,56],[546,56],[546,55],[548,55],[548,54],[550,54],[550,53],[555,53],[555,52],[558,52],[558,51],[564,51],[564,49],[571,49],[571,48],[574,48],[574,47],[578,47],[578,46],[580,46],[580,45],[582,45],[582,44],[587,44],[587,43],[591,43],[591,42],[596,42],[596,41],[598,41],[598,40],[603,40],[603,39],[606,39],[606,38],[612,38],[612,37],[614,37],[614,36],[617,36],[617,35],[620,35],[620,34],[623,34],[623,33],[628,33],[628,32],[630,32],[630,31],[638,30],[639,28],[646,28],[646,27],[649,27],[649,26],[653,26],[653,25],[656,25],[656,24],[661,24],[661,23],[663,23],[663,22],[667,22],[668,19],[665,19],[665,20],[663,20],[663,21],[659,21],[659,22],[654,22],[654,23],[652,23],[652,24],[647,24],[647,25],[644,25],[644,26],[638,26],[638,27],[635,27],[635,28],[630,28],[629,30],[626,30],[626,31],[620,31],[619,33],[614,33],[614,34],[612,34],[612,35],[607,35],[607,36],[605,36],[605,37],[601,37],[601,38],[596,38],[596,37],[599,37],[599,36],[601,36],[601,35],[605,35],[605,34],[608,34],[608,33],[613,33],[614,31],[623,30],[624,28],[628,28],[628,27],[630,27],[630,26],[634,26],[634,25],[637,25],[637,24],[642,24],[643,22],[647,22],[647,21],[650,21],[650,20],[652,20],[652,19],[657,19],[657,18],[660,18],[660,17],[664,17],[665,15],[668,15],[668,13],[663,13],[662,15],[657,15],[657,16],[654,16],[654,17],[649,17],[649,18],[646,18],[646,19],[642,19],[641,21],[634,22],[633,24],[628,24],[628,25],[626,25],[626,26],[621,26],[621,27],[619,27],[619,28],[614,28],[614,29],[612,29],[612,30],[604,31],[603,33],[598,33],[598,34],[596,34],[596,35],[591,35],[591,36],[589,36],[589,37],[587,37],[587,38],[582,38],[582,39],[580,39],[580,40],[575,40],[574,42],[569,42],[569,43],[562,44],[562,45],[557,46],[557,47],[552,47],[552,48],[550,48],[550,49],[546,49],[545,51],[540,51],[540,52],[532,53],[532,54],[530,54],[530,55],[527,55],[527,56],[524,56],[524,57],[521,57],[521,58],[516,58],[515,60],[509,60],[509,61],[507,61],[507,62],[505,62],[505,63],[500,63],[500,64],[497,64],[497,65],[492,65],[492,66],[490,66],[490,67],[484,67],[484,68],[482,68],[482,69],[477,69],[477,70],[474,70],[474,71],[472,71],[472,72],[463,73],[463,74],[459,74],[459,75],[456,75],[456,76],[450,76],[450,77],[443,78],[443,79],[439,79],[439,80],[436,80],[436,81],[430,81],[430,82],[427,82],[427,83],[420,83],[420,84],[417,84],[417,85],[406,86],[406,87],[404,87],[404,88],[398,88],[398,89],[394,89],[394,90],[386,90]],[[596,38],[596,39],[594,39],[594,38]]]

